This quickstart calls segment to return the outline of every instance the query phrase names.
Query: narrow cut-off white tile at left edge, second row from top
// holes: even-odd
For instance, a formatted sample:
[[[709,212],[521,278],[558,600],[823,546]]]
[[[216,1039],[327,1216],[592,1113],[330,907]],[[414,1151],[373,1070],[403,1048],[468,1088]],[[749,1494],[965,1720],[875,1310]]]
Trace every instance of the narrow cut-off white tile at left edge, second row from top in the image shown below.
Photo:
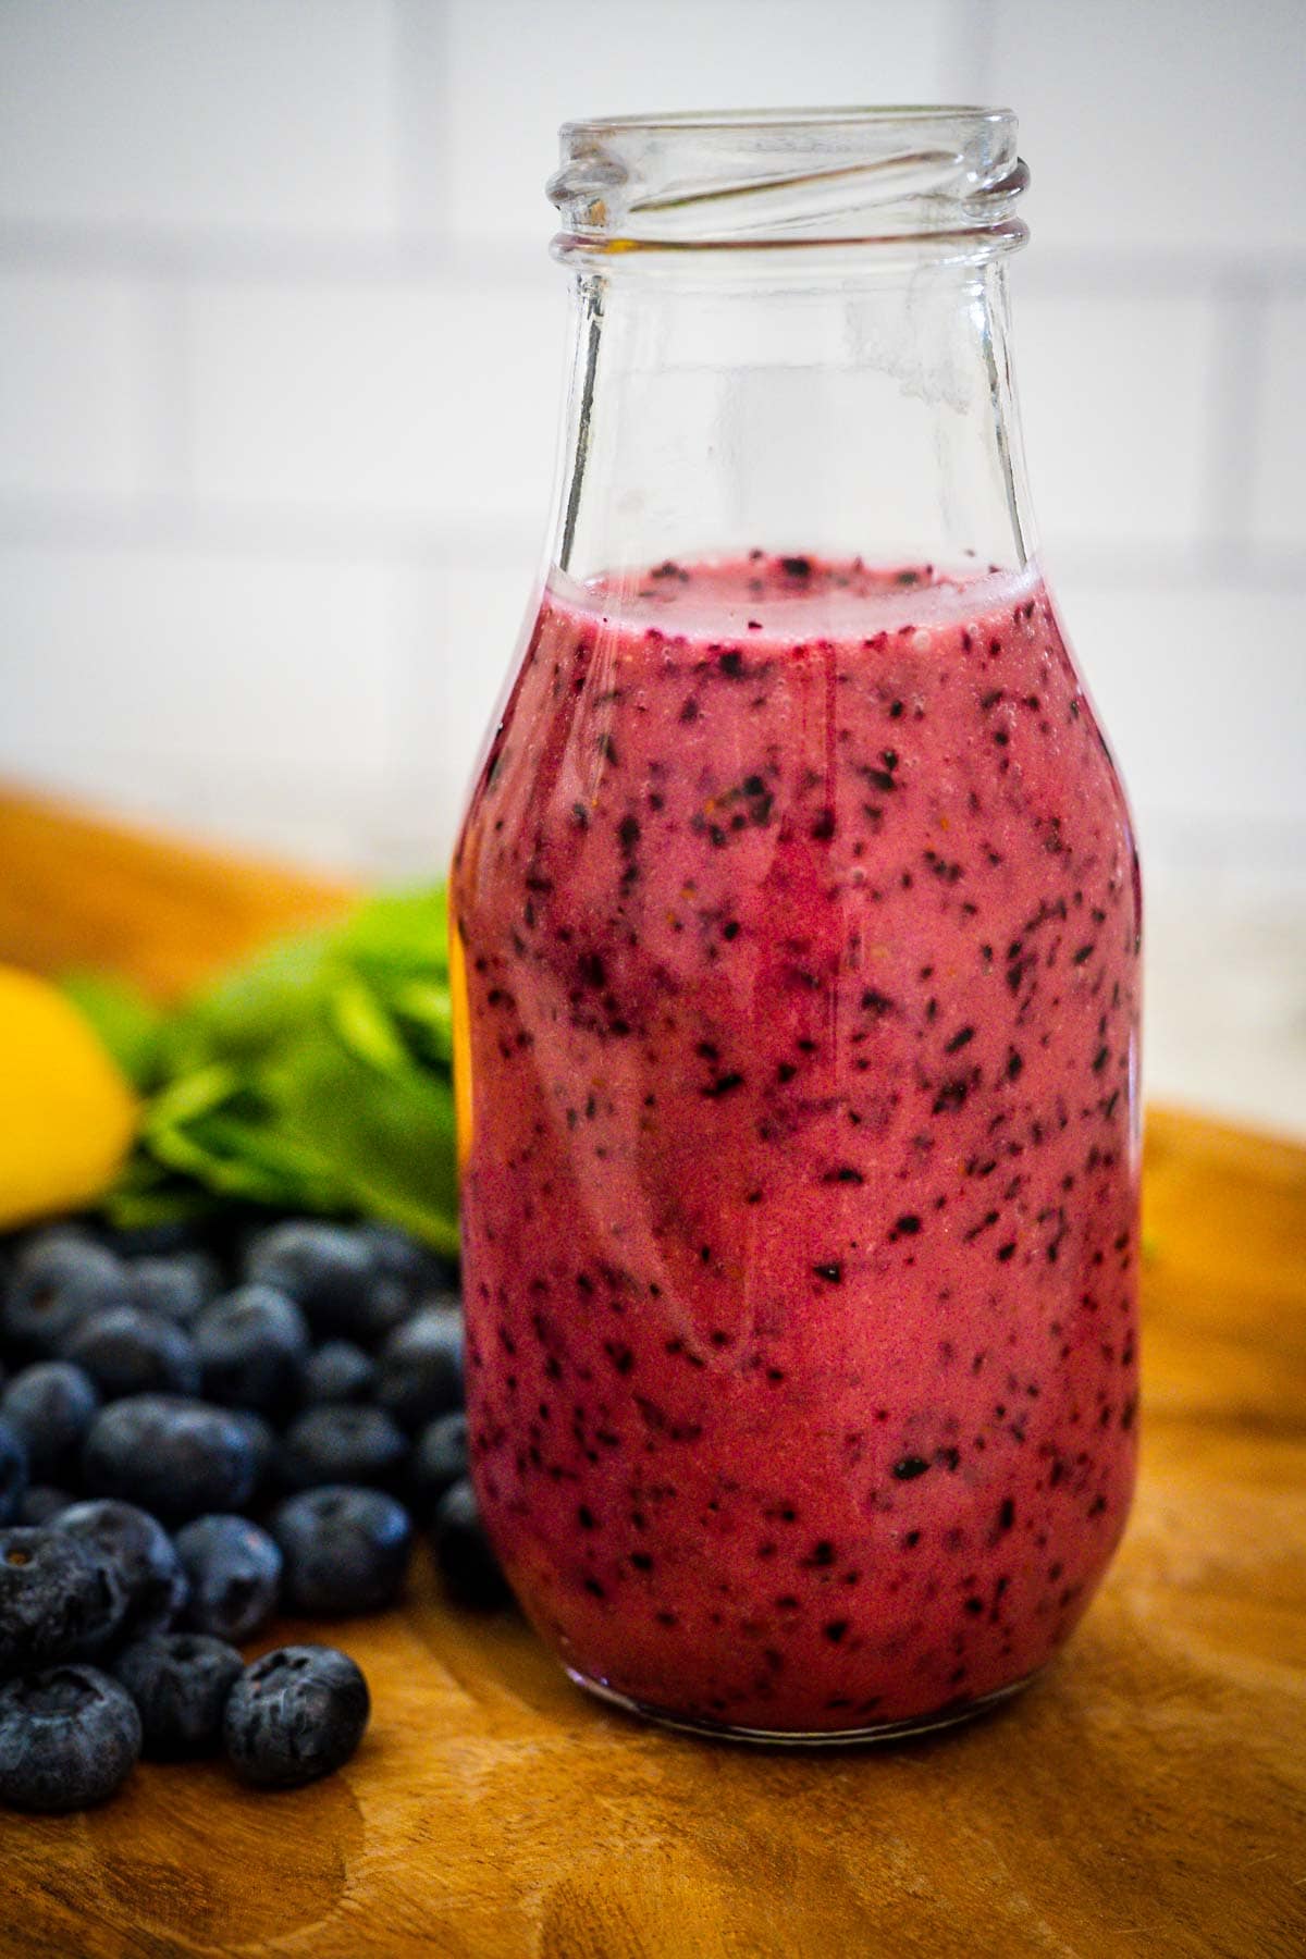
[[[0,264],[0,496],[153,490],[155,296]]]

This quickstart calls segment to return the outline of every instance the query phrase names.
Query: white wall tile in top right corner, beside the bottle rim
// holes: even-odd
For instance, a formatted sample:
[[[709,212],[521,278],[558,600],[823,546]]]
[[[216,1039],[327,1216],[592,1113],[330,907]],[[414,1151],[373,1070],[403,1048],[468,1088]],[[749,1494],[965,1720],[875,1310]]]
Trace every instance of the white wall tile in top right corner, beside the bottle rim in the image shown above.
[[[1300,253],[1304,74],[1300,0],[995,0],[989,94],[1053,249]]]

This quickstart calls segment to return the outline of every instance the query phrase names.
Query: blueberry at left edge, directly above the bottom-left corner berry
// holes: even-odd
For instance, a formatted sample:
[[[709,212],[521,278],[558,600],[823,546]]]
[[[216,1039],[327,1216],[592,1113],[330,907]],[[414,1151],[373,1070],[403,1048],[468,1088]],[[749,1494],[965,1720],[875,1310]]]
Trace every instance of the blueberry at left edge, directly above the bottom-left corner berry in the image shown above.
[[[0,1530],[0,1679],[104,1644],[121,1612],[121,1591],[76,1538]]]

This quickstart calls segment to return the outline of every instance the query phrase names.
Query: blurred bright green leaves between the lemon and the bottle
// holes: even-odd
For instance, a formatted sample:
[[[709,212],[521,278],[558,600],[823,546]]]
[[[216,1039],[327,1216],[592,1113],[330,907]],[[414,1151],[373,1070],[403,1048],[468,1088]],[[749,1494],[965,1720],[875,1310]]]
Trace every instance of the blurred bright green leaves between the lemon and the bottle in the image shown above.
[[[170,1015],[98,976],[69,991],[147,1097],[119,1222],[239,1201],[380,1217],[456,1254],[443,887],[374,897]]]

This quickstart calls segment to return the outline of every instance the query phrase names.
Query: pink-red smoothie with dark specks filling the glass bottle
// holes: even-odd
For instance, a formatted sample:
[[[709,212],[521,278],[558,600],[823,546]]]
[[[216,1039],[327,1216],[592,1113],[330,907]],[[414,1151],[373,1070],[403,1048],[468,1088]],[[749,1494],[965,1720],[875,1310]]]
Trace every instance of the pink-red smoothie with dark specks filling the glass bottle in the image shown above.
[[[566,1665],[846,1734],[1134,1483],[1140,895],[1034,574],[556,576],[458,842],[474,1475]]]

